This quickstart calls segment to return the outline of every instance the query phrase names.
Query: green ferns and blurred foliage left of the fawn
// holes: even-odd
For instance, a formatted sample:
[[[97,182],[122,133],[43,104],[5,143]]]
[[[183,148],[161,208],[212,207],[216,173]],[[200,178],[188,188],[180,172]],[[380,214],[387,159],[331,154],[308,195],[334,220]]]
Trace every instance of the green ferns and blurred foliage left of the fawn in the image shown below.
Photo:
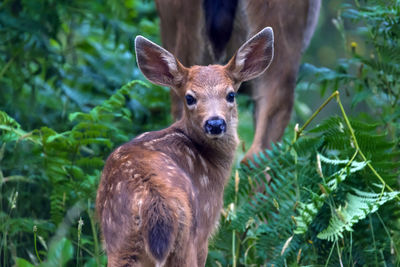
[[[157,40],[157,24],[149,1],[0,3],[1,266],[104,263],[93,214],[104,160],[169,121],[166,89],[128,83],[141,78],[131,41]]]

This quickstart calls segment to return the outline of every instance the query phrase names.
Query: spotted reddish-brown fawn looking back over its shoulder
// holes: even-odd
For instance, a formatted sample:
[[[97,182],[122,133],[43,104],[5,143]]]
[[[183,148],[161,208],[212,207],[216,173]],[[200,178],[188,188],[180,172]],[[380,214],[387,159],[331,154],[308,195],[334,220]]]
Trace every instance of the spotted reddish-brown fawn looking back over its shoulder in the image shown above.
[[[184,67],[138,36],[138,66],[182,102],[170,127],[144,133],[107,159],[96,209],[108,266],[204,266],[238,145],[235,95],[273,57],[265,28],[224,66]]]

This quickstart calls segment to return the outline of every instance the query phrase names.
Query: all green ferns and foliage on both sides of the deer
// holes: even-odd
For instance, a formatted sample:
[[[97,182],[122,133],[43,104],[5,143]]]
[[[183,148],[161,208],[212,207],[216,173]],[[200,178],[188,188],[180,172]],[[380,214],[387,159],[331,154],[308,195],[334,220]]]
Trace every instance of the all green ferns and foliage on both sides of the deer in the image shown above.
[[[104,160],[171,121],[132,54],[157,40],[154,3],[6,0],[0,25],[0,265],[105,265]],[[343,4],[334,25],[347,56],[304,63],[298,88],[338,115],[233,170],[208,266],[400,266],[400,2]]]

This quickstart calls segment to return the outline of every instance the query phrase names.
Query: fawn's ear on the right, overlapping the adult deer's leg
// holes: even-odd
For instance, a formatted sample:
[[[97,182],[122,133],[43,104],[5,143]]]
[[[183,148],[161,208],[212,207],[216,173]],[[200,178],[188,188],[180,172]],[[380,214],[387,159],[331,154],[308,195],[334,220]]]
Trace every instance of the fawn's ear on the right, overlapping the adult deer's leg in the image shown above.
[[[233,79],[244,82],[260,76],[274,56],[274,32],[264,28],[244,43],[225,66]]]

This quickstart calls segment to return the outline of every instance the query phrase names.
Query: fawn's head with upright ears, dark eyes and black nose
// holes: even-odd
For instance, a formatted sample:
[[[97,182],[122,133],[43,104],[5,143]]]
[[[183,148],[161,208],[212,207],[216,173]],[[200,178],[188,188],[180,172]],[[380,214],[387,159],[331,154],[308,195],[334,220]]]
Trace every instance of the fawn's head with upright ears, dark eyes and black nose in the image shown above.
[[[191,131],[211,139],[236,137],[235,96],[240,84],[261,75],[273,57],[273,31],[264,28],[243,44],[225,65],[183,66],[164,48],[137,36],[136,57],[146,78],[169,86],[184,103]]]

